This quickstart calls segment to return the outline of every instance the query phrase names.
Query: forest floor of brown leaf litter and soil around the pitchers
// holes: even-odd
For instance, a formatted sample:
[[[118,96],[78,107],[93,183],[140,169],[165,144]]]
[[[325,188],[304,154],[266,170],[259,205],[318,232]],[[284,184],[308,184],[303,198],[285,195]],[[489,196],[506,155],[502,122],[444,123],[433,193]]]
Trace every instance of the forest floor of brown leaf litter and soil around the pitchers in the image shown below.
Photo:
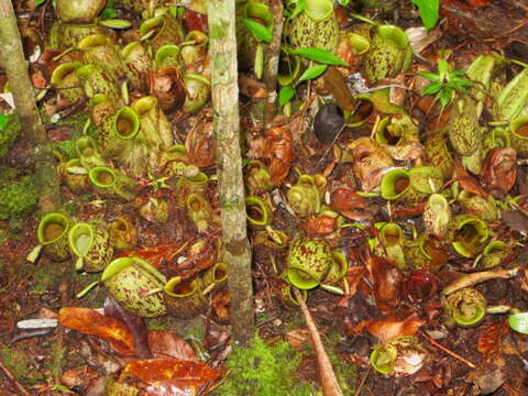
[[[31,13],[37,28],[42,28],[41,22],[51,22],[51,7],[45,12],[32,12],[24,10],[24,4],[18,2],[18,12],[21,15]],[[120,16],[130,16],[119,7],[117,9]],[[358,23],[350,16],[351,12],[404,30],[421,28],[410,1],[372,1],[362,8],[339,7],[341,29],[351,30]],[[487,157],[486,164],[491,163],[487,170],[471,175],[457,163],[454,173],[441,184],[442,190],[457,185],[471,197],[494,197],[494,210],[501,215],[484,220],[490,235],[493,234],[486,244],[492,240],[505,242],[508,254],[502,256],[499,265],[493,268],[483,268],[475,260],[477,256],[483,260],[483,246],[471,257],[464,257],[441,238],[428,245],[429,264],[394,265],[385,255],[389,253],[367,246],[377,243],[378,226],[384,222],[398,224],[409,243],[418,241],[425,234],[424,205],[416,201],[387,205],[378,194],[356,194],[370,191],[365,186],[376,178],[380,183],[386,168],[427,165],[428,136],[450,122],[452,124],[453,107],[440,111],[438,103],[429,100],[431,96],[417,94],[427,82],[417,73],[435,72],[442,56],[453,68],[466,70],[479,55],[497,52],[505,58],[518,61],[507,63],[501,69],[502,81],[509,81],[521,73],[522,63],[528,64],[527,21],[526,1],[442,0],[439,25],[428,35],[415,32],[425,37],[426,44],[419,52],[415,50],[409,70],[377,82],[378,86],[397,86],[389,91],[391,100],[417,121],[420,136],[416,145],[387,151],[389,154],[385,160],[389,165],[383,172],[377,162],[361,168],[358,165],[364,158],[362,150],[369,152],[367,155],[373,151],[377,153],[377,146],[362,141],[373,134],[385,117],[377,108],[367,109],[369,114],[362,116],[363,123],[359,127],[341,130],[342,124],[339,124],[332,130],[331,122],[322,120],[324,127],[317,130],[316,124],[312,130],[322,101],[333,96],[339,103],[336,97],[339,92],[329,95],[323,84],[311,81],[309,86],[305,82],[298,89],[299,99],[292,102],[292,116],[277,117],[272,132],[262,134],[258,116],[254,114],[262,110],[262,92],[266,87],[255,79],[254,74],[241,73],[244,157],[261,160],[261,164],[270,166],[271,177],[278,180],[272,189],[262,193],[258,185],[262,180],[255,170],[260,165],[244,164],[245,174],[253,176],[248,182],[249,186],[252,184],[250,191],[260,191],[254,195],[263,197],[272,207],[273,217],[272,232],[263,227],[249,229],[257,333],[264,340],[264,344],[261,340],[255,341],[250,351],[238,353],[235,350],[237,353],[228,359],[231,348],[224,267],[217,268],[215,284],[205,297],[198,302],[189,302],[185,311],[180,309],[174,316],[139,319],[109,297],[102,284],[77,298],[77,294],[99,280],[101,275],[76,271],[74,258],[54,262],[41,254],[35,262],[28,261],[37,244],[41,219],[34,208],[25,218],[0,220],[0,396],[95,396],[103,395],[105,387],[109,395],[184,394],[180,392],[188,392],[186,395],[321,395],[317,356],[305,319],[300,308],[290,304],[289,286],[278,275],[287,266],[288,250],[284,243],[273,240],[286,235],[292,241],[299,231],[311,239],[324,239],[348,262],[344,283],[340,280],[328,288],[317,287],[308,292],[307,298],[345,395],[528,395],[528,338],[510,329],[507,321],[512,308],[528,311],[526,154],[516,153],[517,157],[509,164],[515,167],[509,185],[509,179],[497,177],[510,177],[512,168],[493,179],[490,173],[495,168]],[[204,25],[204,20],[194,23],[194,26]],[[127,32],[119,34],[123,42],[133,40],[127,36]],[[355,59],[354,56],[351,59]],[[362,72],[361,67],[359,63],[352,65],[350,74]],[[42,68],[31,68],[35,85],[40,78],[45,79],[45,74],[38,74]],[[0,84],[3,85],[6,79],[1,77]],[[402,86],[411,88],[398,89]],[[62,108],[53,90],[40,103],[57,153],[63,160],[72,157],[72,141],[86,133],[89,119],[84,108],[86,103],[81,101]],[[484,111],[479,119],[480,128],[487,131],[493,129],[493,122],[490,124],[493,121],[491,107],[484,99]],[[6,103],[2,109],[8,109]],[[56,113],[61,114],[61,121],[52,122]],[[182,276],[189,280],[202,277],[219,263],[221,229],[217,208],[220,198],[215,177],[212,109],[207,105],[191,116],[168,111],[167,117],[174,141],[183,143],[187,150],[185,164],[199,167],[208,177],[205,184],[189,187],[178,183],[177,177],[164,179],[160,174],[155,175],[157,178],[143,175],[136,178],[133,199],[124,201],[92,190],[74,193],[65,183],[61,191],[65,212],[73,223],[97,219],[113,227],[114,234],[127,233],[130,246],[120,252],[116,249],[114,258],[141,257],[166,278]],[[90,128],[89,134],[94,132],[94,125]],[[448,150],[453,153],[452,146]],[[14,176],[0,175],[6,185],[20,183],[33,166],[30,147],[22,139],[14,142],[0,161],[1,169],[19,169]],[[288,205],[288,191],[296,186],[299,175],[307,174],[324,179],[317,198],[323,208],[317,216],[299,216]],[[317,184],[317,179],[311,180]],[[494,189],[497,186],[503,188],[499,193]],[[205,204],[196,204],[207,208],[205,213],[198,213],[191,205],[186,206],[182,198],[188,195],[186,189],[194,188],[199,197],[205,197]],[[310,194],[310,190],[301,191],[302,195]],[[453,216],[468,210],[462,201],[453,199],[450,204]],[[254,210],[250,209],[249,216],[262,216],[262,208]],[[196,212],[195,218],[191,211]],[[474,235],[469,235],[468,241]],[[483,272],[493,274],[477,279]],[[471,327],[448,324],[444,309],[448,293],[444,290],[461,277],[471,278],[466,286],[484,296],[488,307],[502,309],[501,312],[487,314]],[[143,297],[151,294],[147,290]],[[57,318],[58,326],[53,321]],[[29,319],[37,320],[31,323],[26,322]],[[46,322],[46,319],[52,321]],[[20,328],[21,322],[29,328]],[[404,344],[391,348],[400,354],[400,371],[396,373],[392,367],[386,375],[381,374],[372,367],[372,351],[382,345],[386,352],[391,340],[398,338]],[[405,353],[408,361],[402,361]],[[166,365],[141,366],[138,362],[144,362],[146,358],[156,358]],[[176,360],[186,362],[177,366],[179,371],[176,370]],[[173,372],[161,378],[157,375],[164,370]],[[109,385],[109,382],[118,383],[121,388]],[[141,393],[131,391],[134,386],[141,388]]]

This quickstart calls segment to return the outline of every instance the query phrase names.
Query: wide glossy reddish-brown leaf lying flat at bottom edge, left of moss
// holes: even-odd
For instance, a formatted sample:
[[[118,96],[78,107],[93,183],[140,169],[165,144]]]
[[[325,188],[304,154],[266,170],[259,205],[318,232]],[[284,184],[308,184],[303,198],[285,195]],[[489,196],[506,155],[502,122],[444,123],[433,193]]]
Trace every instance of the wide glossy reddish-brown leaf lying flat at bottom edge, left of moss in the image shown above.
[[[134,384],[141,395],[180,396],[195,395],[198,388],[213,382],[221,372],[198,362],[176,359],[134,361],[127,364],[120,377]]]

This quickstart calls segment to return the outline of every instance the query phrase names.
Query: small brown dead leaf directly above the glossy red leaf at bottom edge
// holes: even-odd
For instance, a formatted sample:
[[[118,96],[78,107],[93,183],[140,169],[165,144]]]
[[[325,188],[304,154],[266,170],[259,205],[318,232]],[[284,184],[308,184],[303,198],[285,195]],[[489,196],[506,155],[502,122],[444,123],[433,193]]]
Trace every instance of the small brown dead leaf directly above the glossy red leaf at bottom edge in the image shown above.
[[[193,348],[169,330],[148,332],[148,344],[155,358],[174,358],[184,361],[197,361]]]

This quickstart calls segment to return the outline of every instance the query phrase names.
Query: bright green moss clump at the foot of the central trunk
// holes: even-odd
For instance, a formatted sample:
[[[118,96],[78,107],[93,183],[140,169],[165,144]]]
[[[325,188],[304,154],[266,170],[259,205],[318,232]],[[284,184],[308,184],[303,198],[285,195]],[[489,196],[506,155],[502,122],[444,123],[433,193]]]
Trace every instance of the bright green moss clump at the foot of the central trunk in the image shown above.
[[[213,392],[221,396],[308,396],[312,391],[294,374],[301,354],[288,343],[278,341],[266,346],[255,336],[250,348],[234,346],[226,365],[228,378]]]

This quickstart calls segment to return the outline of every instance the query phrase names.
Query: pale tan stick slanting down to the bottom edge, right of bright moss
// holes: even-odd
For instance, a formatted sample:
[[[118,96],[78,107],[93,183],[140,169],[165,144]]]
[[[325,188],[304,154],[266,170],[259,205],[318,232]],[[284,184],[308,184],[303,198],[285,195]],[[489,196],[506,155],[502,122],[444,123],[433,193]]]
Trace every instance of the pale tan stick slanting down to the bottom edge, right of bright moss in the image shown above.
[[[306,306],[306,302],[302,299],[300,292],[295,287],[293,288],[293,290],[295,294],[295,298],[297,299],[297,301],[299,301],[300,309],[302,310],[302,315],[305,316],[306,326],[308,327],[308,331],[310,332],[311,343],[314,344],[314,349],[316,350],[319,375],[321,376],[322,393],[324,394],[324,396],[343,396],[343,391],[341,391],[341,387],[339,386],[338,378],[336,377],[336,373],[332,367],[332,363],[330,363],[330,359],[324,351],[321,337],[319,336],[316,323],[311,318],[311,314],[308,310],[308,307]]]

